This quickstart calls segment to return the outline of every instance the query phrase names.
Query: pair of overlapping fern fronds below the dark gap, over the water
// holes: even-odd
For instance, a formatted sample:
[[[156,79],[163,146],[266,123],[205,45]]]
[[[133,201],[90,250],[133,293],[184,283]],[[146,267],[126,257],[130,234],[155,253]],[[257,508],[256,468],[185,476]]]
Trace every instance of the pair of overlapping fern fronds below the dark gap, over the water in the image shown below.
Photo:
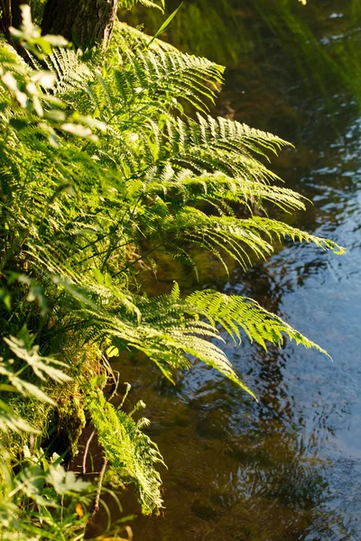
[[[145,353],[172,381],[171,371],[189,368],[188,357],[195,357],[208,366],[217,369],[234,381],[246,392],[255,397],[233,370],[225,353],[210,339],[219,339],[217,326],[222,326],[227,333],[241,342],[240,329],[251,342],[260,344],[267,350],[267,342],[281,346],[284,336],[328,354],[318,344],[285,323],[281,317],[265,310],[252,298],[227,296],[217,291],[206,289],[196,291],[181,299],[177,286],[171,295],[158,298],[138,298],[137,304],[141,319],[137,324],[125,321],[125,316],[110,318],[92,313],[92,327],[113,337],[114,344],[124,341],[127,346]],[[208,323],[199,319],[205,317]],[[102,335],[104,336],[104,335]],[[97,335],[97,338],[99,335]]]

